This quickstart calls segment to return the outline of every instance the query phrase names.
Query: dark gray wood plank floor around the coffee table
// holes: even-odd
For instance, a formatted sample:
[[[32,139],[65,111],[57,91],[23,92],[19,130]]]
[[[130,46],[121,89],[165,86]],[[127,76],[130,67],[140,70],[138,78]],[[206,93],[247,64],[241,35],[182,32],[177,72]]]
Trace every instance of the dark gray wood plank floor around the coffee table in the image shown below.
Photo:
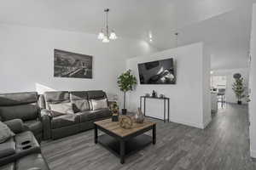
[[[124,165],[94,144],[92,130],[44,142],[42,150],[54,170],[255,170],[247,119],[247,106],[226,105],[205,130],[154,120],[157,144],[127,158]]]

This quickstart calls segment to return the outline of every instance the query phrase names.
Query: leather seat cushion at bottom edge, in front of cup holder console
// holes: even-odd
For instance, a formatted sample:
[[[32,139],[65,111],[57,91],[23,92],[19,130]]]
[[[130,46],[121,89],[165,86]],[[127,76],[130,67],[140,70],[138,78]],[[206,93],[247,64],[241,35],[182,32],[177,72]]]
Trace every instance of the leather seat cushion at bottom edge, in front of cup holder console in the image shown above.
[[[49,170],[49,166],[41,154],[22,157],[15,164],[16,170]]]

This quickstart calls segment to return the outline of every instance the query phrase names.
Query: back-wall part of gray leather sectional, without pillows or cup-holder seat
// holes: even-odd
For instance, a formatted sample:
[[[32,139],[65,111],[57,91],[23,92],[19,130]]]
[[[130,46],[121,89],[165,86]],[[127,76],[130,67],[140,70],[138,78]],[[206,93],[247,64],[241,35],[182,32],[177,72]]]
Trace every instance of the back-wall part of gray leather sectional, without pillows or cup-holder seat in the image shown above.
[[[39,143],[42,139],[59,139],[93,128],[93,122],[111,117],[108,107],[94,110],[91,99],[108,102],[102,90],[0,94],[0,121],[21,119]],[[76,105],[81,102],[88,103],[88,108],[79,110]],[[74,114],[55,116],[49,105],[65,103],[72,103]]]

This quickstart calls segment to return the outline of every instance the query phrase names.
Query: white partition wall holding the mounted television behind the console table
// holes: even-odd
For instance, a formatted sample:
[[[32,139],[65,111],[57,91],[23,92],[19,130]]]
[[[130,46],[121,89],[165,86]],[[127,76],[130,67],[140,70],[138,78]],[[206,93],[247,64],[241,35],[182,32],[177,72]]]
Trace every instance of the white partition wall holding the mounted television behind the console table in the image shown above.
[[[137,85],[128,96],[128,109],[136,111],[139,98],[155,90],[170,98],[170,120],[193,127],[203,128],[211,121],[210,59],[206,59],[203,43],[172,48],[159,53],[127,59],[127,69],[137,76],[137,64],[157,59],[174,58],[177,68],[175,85]],[[204,59],[205,58],[205,59]],[[204,65],[204,66],[203,66]],[[207,72],[207,73],[205,73]],[[207,87],[204,87],[207,86]],[[203,101],[205,99],[205,101]],[[163,103],[157,99],[147,102],[147,115],[162,118]],[[204,114],[205,113],[205,114]]]

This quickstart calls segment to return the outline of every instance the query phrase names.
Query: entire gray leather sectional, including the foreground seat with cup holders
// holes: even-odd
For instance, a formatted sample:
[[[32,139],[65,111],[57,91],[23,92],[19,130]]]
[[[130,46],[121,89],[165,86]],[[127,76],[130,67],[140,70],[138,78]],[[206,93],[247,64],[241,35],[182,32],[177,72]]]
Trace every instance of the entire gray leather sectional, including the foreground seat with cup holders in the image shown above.
[[[53,110],[56,105],[71,105],[72,113],[58,113]],[[93,122],[111,116],[107,95],[102,90],[0,94],[0,121],[15,133],[0,144],[0,169],[47,170],[39,145],[42,139],[79,133],[93,128]]]

